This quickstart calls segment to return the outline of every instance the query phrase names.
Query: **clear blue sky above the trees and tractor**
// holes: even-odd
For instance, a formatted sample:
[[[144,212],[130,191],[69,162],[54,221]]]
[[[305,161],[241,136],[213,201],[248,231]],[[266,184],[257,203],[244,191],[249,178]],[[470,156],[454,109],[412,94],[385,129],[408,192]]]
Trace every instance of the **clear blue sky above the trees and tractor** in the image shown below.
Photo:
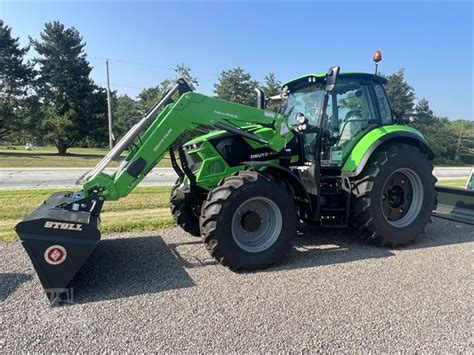
[[[96,83],[137,95],[174,76],[184,63],[212,94],[222,70],[240,66],[262,81],[326,71],[373,72],[405,68],[418,99],[437,115],[473,119],[473,2],[174,1],[9,2],[0,18],[24,45],[44,24],[76,27]],[[33,56],[34,53],[31,52]]]

